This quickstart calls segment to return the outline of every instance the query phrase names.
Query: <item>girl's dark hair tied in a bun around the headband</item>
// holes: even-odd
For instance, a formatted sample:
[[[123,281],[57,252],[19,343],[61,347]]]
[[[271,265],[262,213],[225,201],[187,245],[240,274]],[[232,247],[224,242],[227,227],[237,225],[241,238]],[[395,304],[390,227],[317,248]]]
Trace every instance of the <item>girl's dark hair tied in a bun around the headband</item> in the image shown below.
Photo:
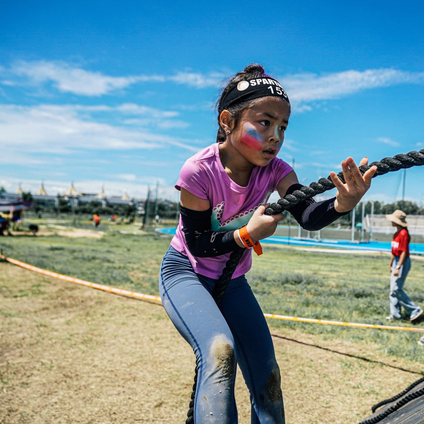
[[[217,110],[217,112],[218,110],[220,110],[221,102],[224,96],[240,81],[245,81],[245,80],[254,79],[254,78],[262,78],[262,77],[271,78],[271,75],[268,75],[265,73],[265,68],[261,64],[251,63],[250,65],[246,66],[243,69],[243,71],[237,72],[237,74],[235,74],[229,81],[228,81],[228,78],[224,80],[223,88],[221,89],[222,90],[221,95],[219,96],[219,100],[217,101],[215,105],[215,109]],[[226,86],[224,86],[225,83],[227,83]],[[230,112],[232,120],[234,121],[234,126],[237,126],[237,120],[240,117],[241,112],[243,112],[244,109],[254,106],[254,104],[256,104],[257,101],[258,99],[246,100],[244,102],[237,103],[226,108],[226,110]],[[216,136],[217,143],[225,141],[226,139],[226,134],[223,128],[221,128],[219,118],[220,118],[220,113],[218,113],[218,134]]]

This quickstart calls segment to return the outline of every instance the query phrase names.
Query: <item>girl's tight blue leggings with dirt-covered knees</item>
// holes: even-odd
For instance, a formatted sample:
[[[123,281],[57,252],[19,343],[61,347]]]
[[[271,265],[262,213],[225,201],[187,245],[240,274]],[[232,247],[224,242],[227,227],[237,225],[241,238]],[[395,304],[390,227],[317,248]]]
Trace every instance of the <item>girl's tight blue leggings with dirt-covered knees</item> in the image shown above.
[[[238,364],[250,392],[251,424],[285,424],[280,371],[262,310],[244,275],[229,282],[218,308],[211,295],[217,282],[195,273],[173,247],[163,258],[163,305],[196,355],[195,423],[237,424]]]

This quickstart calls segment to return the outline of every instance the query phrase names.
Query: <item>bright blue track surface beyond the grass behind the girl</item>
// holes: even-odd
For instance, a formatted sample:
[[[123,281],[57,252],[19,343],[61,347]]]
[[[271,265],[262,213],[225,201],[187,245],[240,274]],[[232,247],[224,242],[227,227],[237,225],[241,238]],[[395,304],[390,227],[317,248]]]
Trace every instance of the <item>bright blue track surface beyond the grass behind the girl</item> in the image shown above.
[[[156,231],[163,234],[175,234],[176,227],[172,228],[159,228]],[[367,250],[372,252],[391,252],[390,242],[383,241],[371,241],[365,243],[351,243],[349,240],[332,240],[332,239],[298,239],[296,237],[277,237],[272,236],[264,240],[261,243],[273,243],[273,244],[287,244],[292,246],[305,246],[305,247],[325,247],[335,249],[348,249],[348,250]],[[424,255],[424,244],[411,243],[409,245],[410,253],[414,255]]]

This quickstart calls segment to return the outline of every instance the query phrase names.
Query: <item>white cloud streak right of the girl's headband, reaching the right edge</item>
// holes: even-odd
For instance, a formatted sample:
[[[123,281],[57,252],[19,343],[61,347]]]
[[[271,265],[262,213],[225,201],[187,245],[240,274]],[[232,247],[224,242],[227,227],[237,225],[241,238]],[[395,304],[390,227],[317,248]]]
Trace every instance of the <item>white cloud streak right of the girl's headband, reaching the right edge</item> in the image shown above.
[[[397,84],[423,84],[424,72],[396,69],[348,70],[327,75],[312,73],[286,75],[278,78],[286,90],[295,112],[308,109],[307,103],[351,95],[365,89]]]

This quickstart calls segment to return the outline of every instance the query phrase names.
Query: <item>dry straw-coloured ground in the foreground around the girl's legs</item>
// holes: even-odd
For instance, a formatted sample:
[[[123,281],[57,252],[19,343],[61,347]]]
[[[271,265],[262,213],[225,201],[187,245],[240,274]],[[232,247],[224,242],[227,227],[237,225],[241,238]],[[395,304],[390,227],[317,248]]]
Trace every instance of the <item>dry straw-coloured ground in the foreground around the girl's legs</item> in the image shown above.
[[[357,423],[422,375],[374,346],[271,333],[287,424]],[[1,424],[184,424],[194,366],[162,306],[0,262]],[[236,398],[250,423],[240,371]]]

